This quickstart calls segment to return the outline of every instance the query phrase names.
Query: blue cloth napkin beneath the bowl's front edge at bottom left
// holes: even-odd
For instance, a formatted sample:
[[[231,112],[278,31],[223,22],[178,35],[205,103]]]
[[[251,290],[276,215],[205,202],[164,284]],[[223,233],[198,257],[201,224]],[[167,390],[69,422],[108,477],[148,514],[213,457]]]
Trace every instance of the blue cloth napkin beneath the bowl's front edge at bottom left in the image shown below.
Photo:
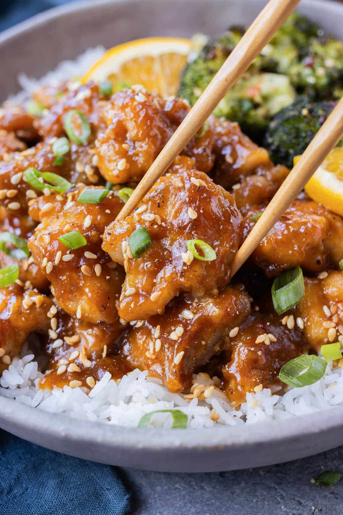
[[[116,468],[72,458],[0,430],[1,515],[124,515]]]

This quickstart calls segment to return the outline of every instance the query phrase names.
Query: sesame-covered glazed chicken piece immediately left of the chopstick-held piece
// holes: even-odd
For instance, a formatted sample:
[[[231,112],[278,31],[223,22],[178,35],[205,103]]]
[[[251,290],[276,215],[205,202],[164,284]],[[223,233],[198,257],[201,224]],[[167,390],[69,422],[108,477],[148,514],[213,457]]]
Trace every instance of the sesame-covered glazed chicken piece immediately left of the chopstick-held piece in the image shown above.
[[[35,200],[29,212],[41,224],[28,246],[35,263],[40,264],[51,282],[60,307],[91,323],[114,323],[118,320],[116,301],[124,273],[101,249],[100,236],[123,202],[114,192],[98,204],[78,202],[81,192],[87,189],[92,188]],[[71,231],[79,231],[87,244],[70,250],[61,243],[58,238]]]

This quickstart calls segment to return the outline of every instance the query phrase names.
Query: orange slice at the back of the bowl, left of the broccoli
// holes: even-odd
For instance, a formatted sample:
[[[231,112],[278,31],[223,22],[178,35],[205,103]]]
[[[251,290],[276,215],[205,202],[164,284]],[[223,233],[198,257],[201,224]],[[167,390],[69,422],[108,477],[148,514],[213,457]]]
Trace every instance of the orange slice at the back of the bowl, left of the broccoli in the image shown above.
[[[109,80],[113,91],[121,89],[121,84],[142,84],[150,93],[166,98],[176,94],[192,47],[192,41],[182,38],[130,41],[107,50],[82,81]]]

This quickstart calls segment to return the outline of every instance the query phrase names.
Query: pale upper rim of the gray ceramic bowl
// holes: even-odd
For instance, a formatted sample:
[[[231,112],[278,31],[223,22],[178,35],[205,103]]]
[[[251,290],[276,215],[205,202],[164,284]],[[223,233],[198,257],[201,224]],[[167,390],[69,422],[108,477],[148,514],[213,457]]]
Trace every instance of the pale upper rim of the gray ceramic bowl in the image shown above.
[[[142,2],[144,0],[132,1]],[[160,3],[164,0],[154,1]],[[188,0],[188,2],[196,1]],[[259,2],[259,0],[249,1],[250,3]],[[125,0],[100,0],[96,3],[96,6],[101,9],[103,6],[120,3],[125,3]],[[343,4],[338,4],[333,0],[303,0],[301,4],[313,7],[325,4],[330,16],[337,12],[337,9],[343,12]],[[89,0],[81,0],[49,9],[3,31],[0,34],[0,45],[10,42],[11,39],[21,33],[38,28],[48,21],[58,19],[60,16],[88,9],[94,9],[94,3]],[[155,428],[138,430],[136,427],[117,426],[111,423],[93,422],[83,419],[80,424],[79,419],[56,413],[51,414],[40,408],[33,408],[18,401],[0,397],[0,425],[7,429],[9,425],[13,425],[14,430],[10,431],[20,435],[22,438],[25,438],[23,434],[25,428],[29,427],[37,435],[42,432],[43,428],[52,439],[67,439],[70,442],[82,440],[85,444],[89,445],[95,442],[98,444],[105,443],[106,448],[114,452],[119,448],[131,449],[132,451],[135,451],[137,448],[148,451],[179,448],[201,451],[202,449],[239,449],[244,446],[247,449],[253,449],[258,444],[265,444],[266,441],[276,444],[278,442],[285,443],[286,441],[300,440],[303,437],[309,438],[322,432],[339,430],[339,428],[343,427],[343,406],[332,407],[328,410],[321,410],[310,415],[286,420],[246,424],[244,431],[242,431],[242,425],[216,425],[212,428],[198,430],[163,430]],[[191,439],[189,438],[190,431]],[[33,441],[32,437],[28,439]],[[337,447],[341,443],[343,441],[339,443],[329,441],[327,449]]]

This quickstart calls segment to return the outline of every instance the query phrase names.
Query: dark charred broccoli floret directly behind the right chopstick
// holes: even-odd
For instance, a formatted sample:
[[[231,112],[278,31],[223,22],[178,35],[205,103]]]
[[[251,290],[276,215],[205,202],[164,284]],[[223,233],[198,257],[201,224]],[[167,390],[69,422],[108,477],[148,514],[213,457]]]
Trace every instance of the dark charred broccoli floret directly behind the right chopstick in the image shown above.
[[[270,158],[292,168],[294,156],[305,150],[335,106],[335,101],[313,102],[301,96],[282,109],[265,134]]]

